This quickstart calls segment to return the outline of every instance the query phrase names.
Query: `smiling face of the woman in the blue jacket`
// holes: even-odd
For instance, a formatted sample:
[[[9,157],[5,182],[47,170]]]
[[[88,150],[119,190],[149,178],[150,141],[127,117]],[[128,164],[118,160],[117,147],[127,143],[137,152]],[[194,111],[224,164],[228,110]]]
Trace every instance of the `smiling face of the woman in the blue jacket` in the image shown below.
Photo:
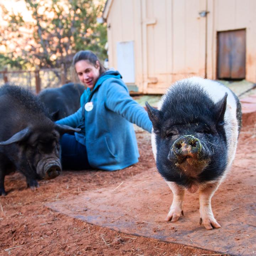
[[[92,90],[100,75],[100,63],[96,61],[96,65],[94,66],[87,60],[79,60],[75,64],[75,70],[82,84]]]

